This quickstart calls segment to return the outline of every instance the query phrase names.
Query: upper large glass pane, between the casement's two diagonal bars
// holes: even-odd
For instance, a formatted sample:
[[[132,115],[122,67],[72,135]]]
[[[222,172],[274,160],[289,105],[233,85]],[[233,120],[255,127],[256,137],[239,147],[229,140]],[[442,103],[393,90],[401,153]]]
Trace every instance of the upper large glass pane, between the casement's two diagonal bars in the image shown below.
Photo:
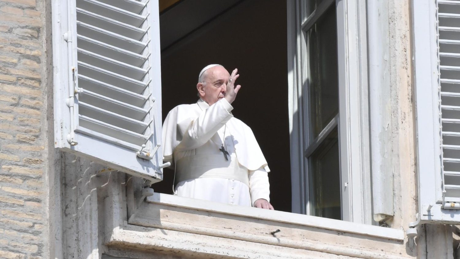
[[[307,33],[310,129],[316,138],[339,112],[335,5]]]

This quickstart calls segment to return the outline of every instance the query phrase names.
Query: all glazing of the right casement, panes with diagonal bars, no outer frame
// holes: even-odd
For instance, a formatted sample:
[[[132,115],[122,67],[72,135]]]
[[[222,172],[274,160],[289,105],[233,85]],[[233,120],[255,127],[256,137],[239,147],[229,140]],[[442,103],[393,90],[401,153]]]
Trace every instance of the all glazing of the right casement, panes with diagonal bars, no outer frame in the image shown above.
[[[315,1],[307,2],[302,31],[307,43],[305,97],[305,159],[309,214],[341,219],[339,161],[339,84],[335,5],[311,16]],[[316,3],[318,6],[318,3]],[[317,9],[317,7],[316,7]],[[310,26],[311,24],[311,26]]]

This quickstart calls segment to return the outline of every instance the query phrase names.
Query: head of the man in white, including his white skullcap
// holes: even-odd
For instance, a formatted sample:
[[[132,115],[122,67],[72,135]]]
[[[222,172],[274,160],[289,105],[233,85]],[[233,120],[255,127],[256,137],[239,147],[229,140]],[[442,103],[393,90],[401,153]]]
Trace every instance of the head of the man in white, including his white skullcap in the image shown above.
[[[198,83],[196,88],[201,99],[207,104],[213,105],[218,100],[224,98],[230,74],[221,66],[207,69],[205,73],[204,82]]]

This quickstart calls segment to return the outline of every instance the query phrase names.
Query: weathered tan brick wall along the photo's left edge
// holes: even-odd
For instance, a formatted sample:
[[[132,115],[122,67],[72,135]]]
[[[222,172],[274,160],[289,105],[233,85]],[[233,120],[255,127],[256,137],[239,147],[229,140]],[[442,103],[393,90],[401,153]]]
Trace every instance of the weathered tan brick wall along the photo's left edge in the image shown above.
[[[41,0],[0,0],[0,258],[44,256]]]

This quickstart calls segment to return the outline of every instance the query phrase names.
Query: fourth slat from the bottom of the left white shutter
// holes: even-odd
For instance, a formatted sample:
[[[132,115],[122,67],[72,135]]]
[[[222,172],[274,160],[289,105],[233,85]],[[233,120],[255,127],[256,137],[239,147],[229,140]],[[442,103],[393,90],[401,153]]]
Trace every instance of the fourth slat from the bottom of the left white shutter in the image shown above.
[[[149,96],[144,96],[126,89],[112,86],[104,82],[92,79],[85,75],[78,75],[79,86],[91,92],[104,94],[106,97],[125,102],[137,107],[142,107]]]

